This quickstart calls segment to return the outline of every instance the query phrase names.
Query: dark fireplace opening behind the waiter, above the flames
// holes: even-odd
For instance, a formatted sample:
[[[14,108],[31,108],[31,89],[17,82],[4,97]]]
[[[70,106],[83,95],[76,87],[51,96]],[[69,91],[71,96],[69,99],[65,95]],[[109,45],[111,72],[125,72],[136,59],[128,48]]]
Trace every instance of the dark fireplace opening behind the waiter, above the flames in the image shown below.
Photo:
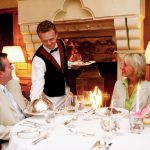
[[[103,93],[112,95],[117,74],[116,45],[112,37],[70,38],[64,41],[69,61],[95,61],[92,65],[70,71],[72,92],[82,94],[97,86]]]

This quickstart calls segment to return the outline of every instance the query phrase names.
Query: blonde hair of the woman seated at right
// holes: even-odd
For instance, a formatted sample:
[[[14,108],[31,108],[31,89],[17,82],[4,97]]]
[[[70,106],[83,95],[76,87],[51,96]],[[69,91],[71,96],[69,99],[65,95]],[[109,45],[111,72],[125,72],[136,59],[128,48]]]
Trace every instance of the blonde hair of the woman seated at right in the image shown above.
[[[140,53],[129,53],[124,56],[124,62],[130,64],[137,75],[139,80],[145,79],[146,60],[145,55]]]

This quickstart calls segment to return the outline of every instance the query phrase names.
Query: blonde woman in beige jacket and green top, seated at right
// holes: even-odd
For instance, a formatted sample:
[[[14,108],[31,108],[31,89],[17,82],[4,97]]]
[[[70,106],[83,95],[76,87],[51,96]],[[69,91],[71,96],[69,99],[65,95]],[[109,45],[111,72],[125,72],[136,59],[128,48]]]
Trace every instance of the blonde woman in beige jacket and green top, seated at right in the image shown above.
[[[137,95],[139,109],[150,104],[150,82],[145,80],[146,61],[143,54],[126,54],[121,65],[123,80],[115,83],[111,106],[136,111]],[[138,90],[138,94],[137,94]]]

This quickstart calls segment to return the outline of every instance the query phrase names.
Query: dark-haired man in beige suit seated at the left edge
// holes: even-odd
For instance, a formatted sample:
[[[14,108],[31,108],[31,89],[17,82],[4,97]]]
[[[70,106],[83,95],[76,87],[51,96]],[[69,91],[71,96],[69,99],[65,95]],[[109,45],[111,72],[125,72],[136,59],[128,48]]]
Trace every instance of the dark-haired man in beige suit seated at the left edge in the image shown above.
[[[13,67],[7,54],[0,53],[0,142],[1,148],[6,149],[9,132],[13,125],[25,118],[25,98],[21,87],[12,79]]]

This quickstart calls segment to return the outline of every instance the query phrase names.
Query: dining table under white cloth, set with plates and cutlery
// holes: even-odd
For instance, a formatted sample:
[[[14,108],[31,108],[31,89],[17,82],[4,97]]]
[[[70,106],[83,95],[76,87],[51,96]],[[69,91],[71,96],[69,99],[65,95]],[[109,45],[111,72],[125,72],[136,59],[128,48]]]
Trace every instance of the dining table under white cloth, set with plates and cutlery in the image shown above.
[[[117,128],[104,131],[102,116],[93,109],[55,112],[47,123],[45,115],[32,115],[12,127],[7,150],[149,150],[150,126],[131,133],[128,113],[117,120]]]

